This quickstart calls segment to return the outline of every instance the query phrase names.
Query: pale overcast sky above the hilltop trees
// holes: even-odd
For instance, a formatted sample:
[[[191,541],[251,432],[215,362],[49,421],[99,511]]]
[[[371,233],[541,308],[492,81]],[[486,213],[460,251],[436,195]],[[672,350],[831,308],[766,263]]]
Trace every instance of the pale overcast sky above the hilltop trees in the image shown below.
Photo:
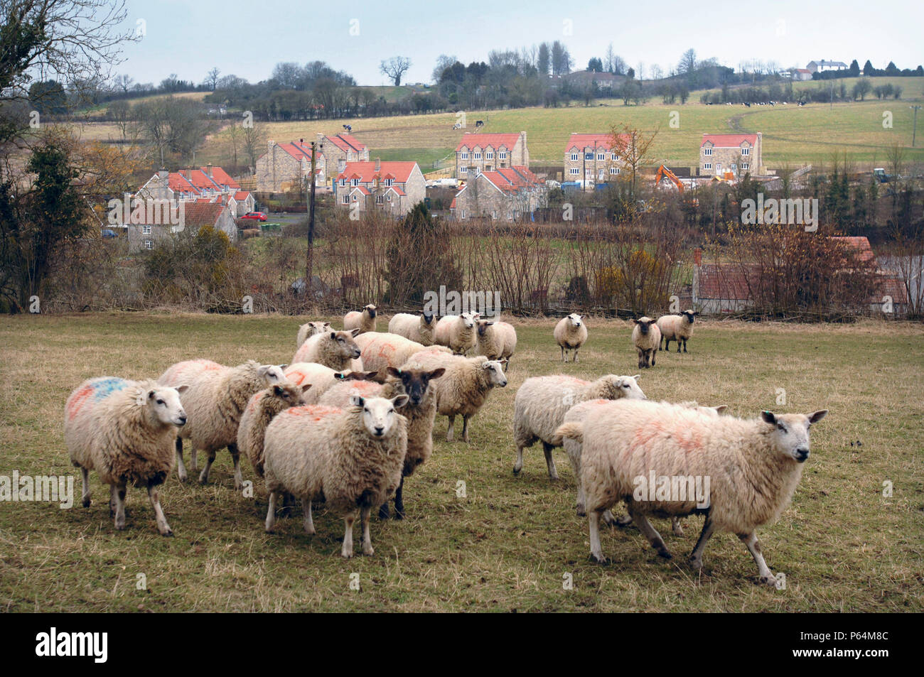
[[[493,49],[561,40],[584,69],[616,54],[643,75],[657,64],[666,73],[687,49],[699,59],[715,57],[737,70],[757,59],[782,67],[805,67],[827,59],[849,64],[867,59],[899,68],[924,63],[920,28],[924,3],[868,0],[809,3],[756,2],[563,3],[530,2],[281,2],[280,0],[126,0],[125,30],[143,31],[129,42],[125,61],[114,66],[138,82],[159,83],[171,73],[201,82],[218,67],[258,82],[282,61],[325,61],[360,85],[390,84],[380,62],[411,60],[404,81],[429,82],[440,54],[459,61],[487,61]]]

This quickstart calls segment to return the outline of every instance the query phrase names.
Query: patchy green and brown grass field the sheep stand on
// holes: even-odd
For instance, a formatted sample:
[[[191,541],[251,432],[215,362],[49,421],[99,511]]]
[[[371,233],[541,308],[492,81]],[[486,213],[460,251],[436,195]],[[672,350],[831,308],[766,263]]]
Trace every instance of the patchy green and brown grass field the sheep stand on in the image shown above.
[[[76,475],[78,492],[61,419],[79,381],[154,377],[188,357],[286,362],[298,324],[116,313],[0,319],[0,475]],[[831,409],[813,429],[792,505],[759,530],[772,570],[786,574],[786,589],[772,590],[755,583],[750,555],[728,534],[711,540],[703,574],[693,574],[684,562],[699,517],[683,537],[655,522],[673,561],[656,557],[634,528],[607,528],[602,545],[613,563],[591,563],[564,454],[556,452],[557,483],[537,448],[512,475],[510,418],[526,378],[638,371],[627,323],[591,321],[582,361],[564,367],[552,326],[517,324],[510,384],[473,420],[470,445],[443,441],[445,419],[437,421],[430,463],[407,480],[407,519],[373,522],[374,556],[341,559],[342,521],[323,509],[313,538],[298,514],[265,534],[261,483],[254,499],[236,493],[222,452],[208,486],[175,477],[164,486],[176,538],[157,535],[140,490],[128,493],[128,528],[115,531],[95,475],[89,509],[79,500],[69,510],[0,502],[0,611],[924,611],[924,327],[705,320],[687,355],[662,354],[639,381],[650,398],[728,404],[738,416]],[[779,388],[786,405],[775,402]],[[891,498],[882,496],[886,480]],[[353,574],[359,590],[350,588]]]

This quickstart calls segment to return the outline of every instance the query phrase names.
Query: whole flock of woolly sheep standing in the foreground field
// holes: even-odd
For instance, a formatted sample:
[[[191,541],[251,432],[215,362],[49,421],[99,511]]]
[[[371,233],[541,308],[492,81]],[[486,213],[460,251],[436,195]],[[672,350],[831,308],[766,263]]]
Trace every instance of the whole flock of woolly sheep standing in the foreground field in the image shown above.
[[[652,367],[658,350],[675,341],[687,351],[696,313],[687,310],[654,321],[634,320],[632,342],[638,366]],[[353,555],[353,526],[359,516],[363,554],[372,554],[371,511],[383,519],[405,516],[404,481],[433,451],[437,415],[448,418],[453,441],[456,417],[462,439],[492,390],[507,385],[506,369],[517,348],[507,322],[478,313],[445,316],[429,311],[399,313],[388,332],[377,332],[378,310],[369,305],[347,313],[344,329],[311,321],[298,329],[297,350],[288,365],[249,361],[225,367],[208,359],[179,362],[156,381],[100,377],[84,381],[67,399],[65,441],[70,460],[83,475],[83,505],[90,505],[88,474],[95,470],[110,486],[116,529],[125,527],[128,485],[148,491],[158,531],[172,535],[157,488],[176,465],[188,479],[206,453],[200,482],[209,479],[218,450],[234,461],[235,488],[243,478],[240,454],[263,478],[269,494],[265,529],[275,527],[277,503],[301,502],[304,527],[314,534],[313,502],[344,517],[341,554]],[[565,361],[587,342],[584,319],[571,314],[554,327]],[[474,357],[467,357],[472,353]],[[634,524],[663,557],[671,557],[649,517],[704,514],[705,524],[690,556],[702,566],[702,551],[716,530],[741,538],[757,562],[760,580],[775,585],[755,535],[792,498],[808,458],[808,429],[826,410],[756,419],[723,415],[726,407],[695,402],[653,402],[638,375],[607,374],[595,381],[567,375],[532,377],[517,390],[513,433],[517,460],[541,441],[549,477],[558,478],[553,449],[565,448],[577,478],[577,514],[588,516],[590,553],[606,562],[599,523]],[[707,478],[708,500],[693,495],[639,495],[639,478]],[[611,509],[625,502],[627,516]]]

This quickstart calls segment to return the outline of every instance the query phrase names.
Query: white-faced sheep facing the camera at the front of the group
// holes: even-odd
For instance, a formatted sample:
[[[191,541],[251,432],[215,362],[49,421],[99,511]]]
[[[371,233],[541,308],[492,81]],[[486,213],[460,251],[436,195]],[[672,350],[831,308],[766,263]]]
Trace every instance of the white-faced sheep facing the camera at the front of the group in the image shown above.
[[[343,557],[353,556],[353,523],[359,512],[362,553],[373,554],[369,517],[401,482],[407,419],[395,409],[407,400],[407,395],[391,400],[357,395],[347,409],[296,406],[275,417],[264,443],[263,469],[270,492],[267,533],[274,531],[277,495],[286,491],[301,499],[309,535],[315,533],[311,502],[323,499],[328,510],[344,515]]]

